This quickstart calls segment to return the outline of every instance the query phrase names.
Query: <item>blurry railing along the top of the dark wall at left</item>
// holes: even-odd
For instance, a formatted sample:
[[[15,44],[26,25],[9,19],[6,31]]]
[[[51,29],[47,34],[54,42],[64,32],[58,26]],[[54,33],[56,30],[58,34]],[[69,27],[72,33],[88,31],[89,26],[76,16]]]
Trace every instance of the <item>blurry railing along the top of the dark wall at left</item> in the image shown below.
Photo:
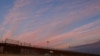
[[[16,44],[16,45],[19,45],[19,46],[27,46],[27,47],[36,47],[36,48],[50,49],[48,47],[48,45],[46,46],[45,44],[44,45],[32,45],[31,43],[21,42],[19,40],[13,40],[13,39],[0,40],[0,43],[9,43],[9,44]]]

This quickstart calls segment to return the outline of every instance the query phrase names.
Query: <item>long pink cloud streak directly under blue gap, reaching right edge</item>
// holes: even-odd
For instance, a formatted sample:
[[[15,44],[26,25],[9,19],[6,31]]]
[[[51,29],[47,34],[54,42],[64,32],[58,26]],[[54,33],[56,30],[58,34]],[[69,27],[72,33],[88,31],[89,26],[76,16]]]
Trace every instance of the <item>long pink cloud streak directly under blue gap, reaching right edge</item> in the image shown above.
[[[86,24],[86,25],[83,25],[79,28],[73,29],[72,31],[70,31],[68,33],[64,33],[64,34],[60,34],[60,35],[56,35],[56,36],[52,36],[53,34],[51,34],[50,36],[48,36],[49,38],[46,38],[43,41],[40,41],[40,43],[42,43],[42,42],[45,43],[46,41],[50,41],[51,43],[53,43],[53,44],[50,44],[50,45],[55,45],[58,42],[60,42],[60,41],[62,42],[64,39],[68,39],[68,38],[72,38],[72,39],[75,38],[75,40],[77,40],[77,39],[79,39],[77,37],[81,37],[80,39],[82,39],[84,37],[89,37],[89,36],[92,37],[92,36],[95,36],[95,35],[99,35],[100,29],[99,29],[98,26],[97,26],[97,28],[95,27],[95,25],[97,25],[97,24],[100,24],[99,20],[92,22],[92,23],[89,23],[89,24]],[[93,28],[94,30],[89,29],[93,26],[95,27],[95,28]],[[85,30],[83,30],[83,29],[85,29]],[[88,32],[88,30],[90,30],[90,31]],[[86,31],[86,32],[84,33],[83,31]]]

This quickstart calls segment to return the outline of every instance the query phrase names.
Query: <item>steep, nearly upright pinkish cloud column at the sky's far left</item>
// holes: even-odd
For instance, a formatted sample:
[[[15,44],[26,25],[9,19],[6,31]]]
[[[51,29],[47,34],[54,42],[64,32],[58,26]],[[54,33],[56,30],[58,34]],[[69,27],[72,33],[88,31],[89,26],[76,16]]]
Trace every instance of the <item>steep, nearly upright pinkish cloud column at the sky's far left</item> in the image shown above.
[[[24,3],[23,3],[24,2]],[[12,33],[20,26],[20,23],[24,19],[27,18],[27,12],[22,12],[20,9],[27,5],[29,2],[26,0],[16,0],[13,8],[9,11],[9,13],[5,16],[5,20],[3,22],[2,28],[5,31],[6,26],[9,26],[6,29],[5,34],[3,34],[3,38],[10,38]]]

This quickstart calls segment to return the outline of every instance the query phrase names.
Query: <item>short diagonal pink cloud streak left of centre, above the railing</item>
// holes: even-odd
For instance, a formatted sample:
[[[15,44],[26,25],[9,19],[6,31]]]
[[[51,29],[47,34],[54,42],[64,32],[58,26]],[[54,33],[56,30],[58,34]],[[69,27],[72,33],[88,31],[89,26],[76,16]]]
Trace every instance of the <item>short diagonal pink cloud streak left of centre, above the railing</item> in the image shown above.
[[[33,40],[33,39],[37,39],[42,33],[44,33],[47,30],[50,30],[52,27],[55,27],[58,23],[57,22],[53,22],[50,21],[48,24],[40,26],[39,28],[37,28],[34,31],[31,32],[25,32],[20,34],[17,39],[20,40]]]

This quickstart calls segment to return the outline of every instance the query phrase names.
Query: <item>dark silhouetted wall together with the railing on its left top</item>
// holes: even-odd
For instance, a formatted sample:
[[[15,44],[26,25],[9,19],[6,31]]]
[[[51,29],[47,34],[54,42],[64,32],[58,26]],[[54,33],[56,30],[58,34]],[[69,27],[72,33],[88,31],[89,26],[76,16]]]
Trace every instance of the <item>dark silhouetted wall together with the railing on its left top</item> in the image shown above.
[[[78,53],[72,51],[54,50],[47,48],[38,48],[32,46],[30,43],[20,42],[12,39],[6,39],[5,41],[0,41],[0,53],[3,54],[52,54],[52,55],[76,55],[76,56],[98,56],[94,54]]]

